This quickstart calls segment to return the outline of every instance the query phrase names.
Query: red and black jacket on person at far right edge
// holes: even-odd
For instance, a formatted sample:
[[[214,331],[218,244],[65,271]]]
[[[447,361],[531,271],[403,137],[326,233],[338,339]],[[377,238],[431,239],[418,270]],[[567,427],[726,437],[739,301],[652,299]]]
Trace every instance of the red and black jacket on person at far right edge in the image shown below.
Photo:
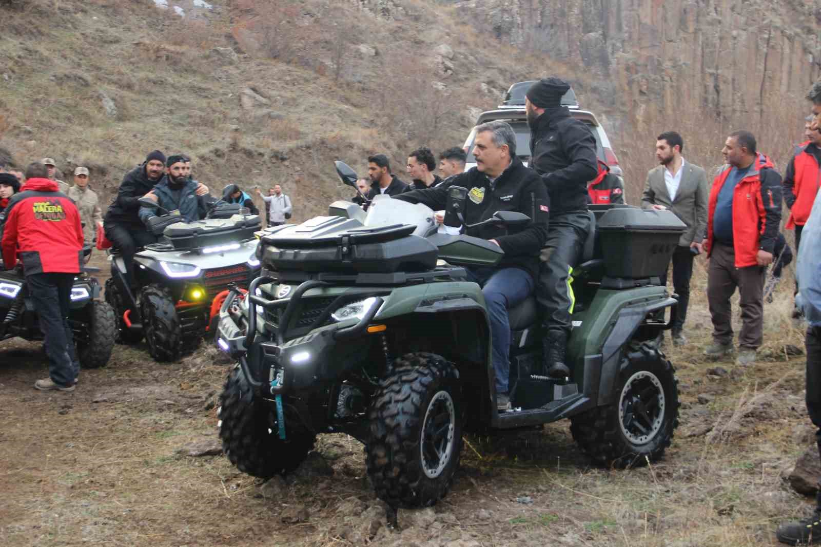
[[[811,148],[810,148],[811,147]],[[784,177],[784,201],[790,208],[790,217],[784,228],[791,230],[804,226],[810,218],[815,194],[821,186],[821,165],[818,149],[810,141],[798,145],[796,154],[787,164]]]

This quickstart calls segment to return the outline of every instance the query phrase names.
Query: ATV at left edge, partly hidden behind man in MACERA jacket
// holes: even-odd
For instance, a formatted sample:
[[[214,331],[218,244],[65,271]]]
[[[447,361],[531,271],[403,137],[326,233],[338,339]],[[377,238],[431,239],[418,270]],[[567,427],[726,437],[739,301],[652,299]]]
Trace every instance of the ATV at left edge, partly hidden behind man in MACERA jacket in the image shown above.
[[[86,254],[90,251],[91,248],[86,247]],[[84,266],[71,287],[68,321],[74,335],[77,359],[83,369],[97,369],[108,364],[116,335],[114,312],[107,302],[99,300],[99,282],[89,275],[98,271]],[[42,340],[43,333],[22,266],[6,271],[0,261],[0,340],[14,337]]]

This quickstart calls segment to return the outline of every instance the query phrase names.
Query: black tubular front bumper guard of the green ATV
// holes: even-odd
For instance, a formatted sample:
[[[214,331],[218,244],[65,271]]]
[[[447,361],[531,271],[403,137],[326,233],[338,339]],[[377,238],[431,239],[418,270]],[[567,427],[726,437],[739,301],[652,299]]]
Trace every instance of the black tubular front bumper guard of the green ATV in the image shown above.
[[[277,363],[284,363],[291,361],[297,362],[300,356],[319,355],[319,353],[322,353],[328,346],[333,346],[335,342],[356,338],[364,334],[368,329],[368,325],[383,304],[382,297],[374,296],[376,299],[375,305],[371,306],[368,312],[355,324],[347,327],[342,327],[342,324],[340,324],[339,326],[333,326],[331,329],[316,331],[315,329],[322,326],[328,320],[328,316],[333,310],[337,309],[338,306],[342,306],[343,303],[350,298],[350,296],[346,295],[337,296],[337,299],[310,324],[308,334],[300,338],[288,340],[287,335],[289,329],[287,325],[291,323],[291,317],[296,313],[296,308],[299,306],[302,295],[312,288],[330,287],[333,283],[315,280],[305,281],[305,283],[301,283],[299,287],[296,287],[296,290],[291,293],[290,298],[282,298],[279,300],[268,300],[264,296],[257,295],[256,291],[259,285],[273,283],[275,281],[277,281],[277,279],[264,276],[256,278],[250,283],[248,292],[245,295],[245,297],[248,298],[248,328],[245,330],[245,333],[242,332],[241,326],[236,324],[236,321],[229,312],[232,302],[241,294],[240,291],[232,289],[220,309],[217,345],[223,352],[228,353],[240,361],[245,378],[255,388],[262,388],[264,386],[264,381],[260,381],[252,374],[247,360],[247,352],[253,347],[257,335],[256,306],[262,306],[266,310],[281,307],[285,308],[277,329],[276,342],[263,342],[260,344],[264,356],[273,358]],[[274,368],[282,367],[270,367],[269,369],[270,377],[268,378],[268,383],[270,384],[270,393],[277,395],[287,390],[287,382],[282,376],[275,375]]]

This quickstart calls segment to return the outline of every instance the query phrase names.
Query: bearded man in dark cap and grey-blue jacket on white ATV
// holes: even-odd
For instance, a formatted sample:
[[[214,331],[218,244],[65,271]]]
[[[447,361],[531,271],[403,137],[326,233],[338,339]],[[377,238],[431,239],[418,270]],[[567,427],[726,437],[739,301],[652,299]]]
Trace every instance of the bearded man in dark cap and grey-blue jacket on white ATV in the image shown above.
[[[165,164],[165,176],[144,197],[154,200],[167,211],[179,211],[181,222],[192,223],[205,218],[208,210],[204,200],[197,195],[199,183],[188,178],[185,156],[170,156]],[[140,220],[148,223],[149,218],[157,216],[157,212],[154,207],[140,207]]]

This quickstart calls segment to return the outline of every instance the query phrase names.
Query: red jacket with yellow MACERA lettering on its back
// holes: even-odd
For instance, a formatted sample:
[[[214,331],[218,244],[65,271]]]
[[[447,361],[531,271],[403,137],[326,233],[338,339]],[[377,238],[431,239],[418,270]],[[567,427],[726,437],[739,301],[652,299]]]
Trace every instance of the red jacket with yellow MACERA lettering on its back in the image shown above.
[[[3,266],[12,269],[20,254],[25,274],[77,274],[83,263],[80,212],[57,182],[30,178],[3,211]]]

